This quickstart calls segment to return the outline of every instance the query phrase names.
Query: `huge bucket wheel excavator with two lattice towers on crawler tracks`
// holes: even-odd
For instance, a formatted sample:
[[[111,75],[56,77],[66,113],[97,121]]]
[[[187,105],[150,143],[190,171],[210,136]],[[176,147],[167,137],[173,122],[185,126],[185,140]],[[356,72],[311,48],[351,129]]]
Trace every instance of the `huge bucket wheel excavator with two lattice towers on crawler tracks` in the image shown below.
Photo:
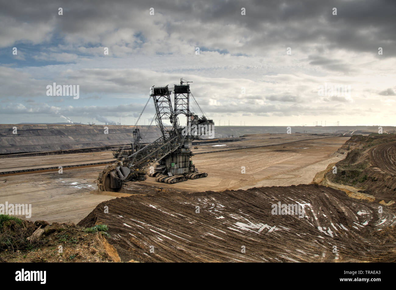
[[[139,133],[139,129],[135,129],[135,143],[131,143],[132,150],[119,150],[117,162],[107,165],[99,174],[97,179],[99,190],[118,192],[124,184],[130,181],[143,181],[147,179],[147,175],[164,183],[176,183],[208,176],[205,172],[199,172],[190,160],[194,156],[191,147],[192,140],[213,132],[214,123],[213,120],[208,120],[204,116],[190,92],[188,83],[181,79],[180,85],[174,85],[173,88],[152,86],[149,100],[154,101],[156,111],[154,118],[161,137],[143,146],[140,143],[140,134],[135,138],[135,133],[136,135]],[[171,103],[172,89],[173,105]],[[203,114],[200,118],[190,111],[190,95]],[[179,115],[187,117],[187,124],[184,128],[179,124]],[[170,123],[171,126],[165,126],[164,122]]]

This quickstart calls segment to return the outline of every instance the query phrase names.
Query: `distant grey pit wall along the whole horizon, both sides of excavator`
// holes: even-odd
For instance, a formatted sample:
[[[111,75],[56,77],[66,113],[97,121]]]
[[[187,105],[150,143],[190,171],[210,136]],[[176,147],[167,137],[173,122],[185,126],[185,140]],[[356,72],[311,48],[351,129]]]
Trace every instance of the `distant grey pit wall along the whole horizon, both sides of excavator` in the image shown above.
[[[13,134],[14,127],[17,128],[17,134]],[[69,150],[107,146],[109,148],[105,148],[104,151],[106,151],[112,150],[114,146],[129,145],[133,141],[135,126],[107,125],[108,134],[105,134],[104,127],[105,125],[82,124],[0,124],[0,155],[48,151],[60,151],[63,154],[68,153]],[[151,143],[160,137],[156,126],[137,126],[137,128],[143,137],[142,143]],[[376,130],[378,130],[375,126],[296,126],[292,127],[292,133],[297,134],[304,131],[311,134],[335,133],[343,132],[343,130],[348,131],[351,128],[353,128],[352,130],[362,130],[362,132],[377,132]],[[228,136],[232,135],[234,138],[238,138],[249,134],[286,134],[285,126],[215,126],[214,130],[214,139],[196,141],[197,143],[193,143],[193,145],[204,141],[231,141],[234,139],[228,138]],[[383,127],[383,130],[394,130],[394,127]]]

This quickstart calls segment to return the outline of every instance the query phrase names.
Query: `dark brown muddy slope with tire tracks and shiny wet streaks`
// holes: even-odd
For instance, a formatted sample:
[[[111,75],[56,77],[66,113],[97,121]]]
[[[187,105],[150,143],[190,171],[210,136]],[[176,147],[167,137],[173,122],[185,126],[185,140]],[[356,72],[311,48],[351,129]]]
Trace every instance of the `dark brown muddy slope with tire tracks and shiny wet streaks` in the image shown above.
[[[278,202],[304,205],[304,217],[272,215],[271,205]],[[396,260],[395,245],[373,234],[396,223],[390,210],[379,214],[377,204],[318,185],[116,198],[78,225],[95,223],[108,225],[108,240],[122,261]]]

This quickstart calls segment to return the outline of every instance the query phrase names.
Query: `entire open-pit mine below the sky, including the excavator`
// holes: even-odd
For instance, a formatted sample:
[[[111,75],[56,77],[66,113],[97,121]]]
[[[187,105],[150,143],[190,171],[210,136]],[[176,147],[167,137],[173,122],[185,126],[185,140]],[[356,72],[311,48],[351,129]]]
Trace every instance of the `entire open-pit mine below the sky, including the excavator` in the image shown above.
[[[394,134],[214,126],[183,79],[148,104],[155,125],[108,134],[0,125],[0,214],[31,205],[2,219],[0,261],[396,260]],[[26,237],[4,242],[21,225]]]

